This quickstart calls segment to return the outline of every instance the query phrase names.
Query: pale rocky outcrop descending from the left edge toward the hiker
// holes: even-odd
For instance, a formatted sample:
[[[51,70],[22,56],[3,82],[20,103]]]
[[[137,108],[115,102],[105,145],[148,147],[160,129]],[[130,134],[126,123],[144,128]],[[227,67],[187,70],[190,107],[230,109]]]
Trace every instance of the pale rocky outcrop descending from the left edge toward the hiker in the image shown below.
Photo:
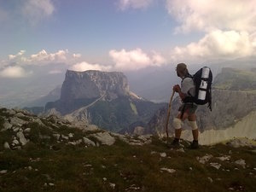
[[[19,118],[20,117],[20,118]],[[57,144],[99,147],[121,140],[131,145],[151,143],[151,136],[131,137],[99,129],[96,125],[73,124],[55,115],[40,118],[20,109],[0,108],[0,150],[20,149],[27,143],[44,143],[57,150]]]

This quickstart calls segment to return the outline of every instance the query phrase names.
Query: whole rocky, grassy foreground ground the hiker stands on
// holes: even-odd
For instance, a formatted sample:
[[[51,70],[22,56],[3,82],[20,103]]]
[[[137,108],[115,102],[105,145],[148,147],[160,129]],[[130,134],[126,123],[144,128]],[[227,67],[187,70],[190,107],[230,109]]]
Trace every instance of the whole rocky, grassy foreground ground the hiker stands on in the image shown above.
[[[255,191],[255,143],[168,148],[95,125],[0,109],[0,191]]]

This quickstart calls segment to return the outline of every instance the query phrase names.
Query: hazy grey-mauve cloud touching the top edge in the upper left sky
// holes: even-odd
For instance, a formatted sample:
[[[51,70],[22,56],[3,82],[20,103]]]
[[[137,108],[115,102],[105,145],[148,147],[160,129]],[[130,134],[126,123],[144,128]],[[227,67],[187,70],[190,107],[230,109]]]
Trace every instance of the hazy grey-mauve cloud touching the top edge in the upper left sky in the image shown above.
[[[24,2],[22,14],[32,25],[49,17],[55,10],[52,0],[25,0]]]

